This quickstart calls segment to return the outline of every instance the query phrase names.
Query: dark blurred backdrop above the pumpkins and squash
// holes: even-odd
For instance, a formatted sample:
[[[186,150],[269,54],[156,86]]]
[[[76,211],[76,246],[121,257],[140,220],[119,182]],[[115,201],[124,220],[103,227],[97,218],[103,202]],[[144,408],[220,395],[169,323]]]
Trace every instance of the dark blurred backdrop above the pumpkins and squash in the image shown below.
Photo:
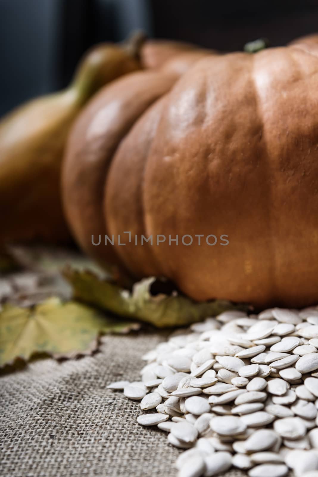
[[[0,0],[0,115],[67,85],[82,53],[141,28],[223,51],[318,31],[318,0]]]

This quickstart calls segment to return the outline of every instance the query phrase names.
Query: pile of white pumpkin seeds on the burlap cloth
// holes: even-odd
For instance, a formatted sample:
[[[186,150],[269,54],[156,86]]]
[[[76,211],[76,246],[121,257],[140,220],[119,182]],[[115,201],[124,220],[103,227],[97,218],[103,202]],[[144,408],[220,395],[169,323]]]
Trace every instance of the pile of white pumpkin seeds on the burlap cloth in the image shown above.
[[[318,307],[226,311],[147,353],[140,381],[108,387],[185,449],[179,477],[318,477],[317,351]]]

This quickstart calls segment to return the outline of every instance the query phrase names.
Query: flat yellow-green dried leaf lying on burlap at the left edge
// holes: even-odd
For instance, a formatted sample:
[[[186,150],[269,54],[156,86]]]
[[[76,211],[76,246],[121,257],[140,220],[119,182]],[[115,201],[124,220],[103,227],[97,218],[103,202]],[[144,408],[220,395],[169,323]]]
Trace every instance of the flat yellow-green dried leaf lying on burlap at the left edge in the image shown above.
[[[34,308],[10,303],[0,312],[0,367],[35,353],[75,357],[97,348],[100,334],[139,329],[138,323],[106,317],[86,305],[50,298]]]

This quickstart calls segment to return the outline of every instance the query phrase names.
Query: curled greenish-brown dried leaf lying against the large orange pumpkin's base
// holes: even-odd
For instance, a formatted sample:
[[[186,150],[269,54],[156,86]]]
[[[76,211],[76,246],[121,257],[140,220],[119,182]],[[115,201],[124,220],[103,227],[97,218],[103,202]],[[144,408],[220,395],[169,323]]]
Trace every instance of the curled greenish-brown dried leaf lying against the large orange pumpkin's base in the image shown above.
[[[130,293],[89,271],[77,271],[69,267],[63,271],[63,275],[70,282],[75,299],[119,316],[147,321],[159,328],[188,325],[222,311],[248,308],[225,300],[195,302],[177,292],[153,295],[151,287],[156,281],[154,277],[135,283]]]

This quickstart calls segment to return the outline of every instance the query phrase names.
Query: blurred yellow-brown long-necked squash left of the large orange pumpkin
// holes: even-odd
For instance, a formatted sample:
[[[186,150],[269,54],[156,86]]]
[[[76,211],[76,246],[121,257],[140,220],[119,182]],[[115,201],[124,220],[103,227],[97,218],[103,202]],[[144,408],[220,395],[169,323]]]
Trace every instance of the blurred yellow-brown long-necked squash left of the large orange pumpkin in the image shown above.
[[[0,121],[0,245],[67,242],[60,168],[80,109],[104,84],[140,69],[140,34],[124,44],[100,44],[80,62],[70,86],[16,108]]]

